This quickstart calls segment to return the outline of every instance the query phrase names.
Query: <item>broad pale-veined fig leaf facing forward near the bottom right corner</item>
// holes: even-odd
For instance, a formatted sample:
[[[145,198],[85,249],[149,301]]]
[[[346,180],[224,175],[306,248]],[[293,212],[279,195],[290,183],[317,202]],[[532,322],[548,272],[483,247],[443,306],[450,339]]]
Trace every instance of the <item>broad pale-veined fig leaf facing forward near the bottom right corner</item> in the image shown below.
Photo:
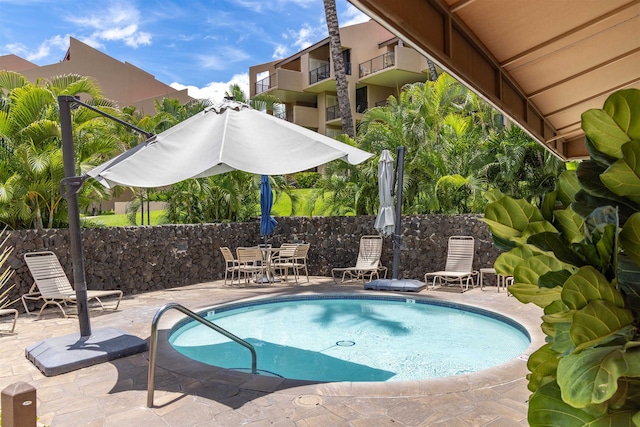
[[[576,408],[611,399],[620,377],[640,377],[639,344],[592,348],[561,358],[557,381],[562,399]]]

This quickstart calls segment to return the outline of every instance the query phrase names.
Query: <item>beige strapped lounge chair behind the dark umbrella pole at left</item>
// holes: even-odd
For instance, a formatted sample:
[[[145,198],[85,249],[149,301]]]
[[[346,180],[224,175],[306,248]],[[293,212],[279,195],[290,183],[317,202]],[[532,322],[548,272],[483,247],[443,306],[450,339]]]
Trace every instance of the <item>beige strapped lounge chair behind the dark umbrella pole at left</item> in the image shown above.
[[[50,304],[55,304],[62,311],[62,315],[67,317],[64,307],[69,303],[76,303],[76,292],[69,283],[60,261],[56,254],[50,251],[29,252],[24,254],[24,260],[33,276],[33,285],[28,293],[22,295],[22,304],[27,314],[31,314],[27,301],[44,301],[38,312],[38,317],[42,311]],[[122,300],[122,291],[93,291],[87,290],[87,301],[96,300],[100,307],[105,310],[107,307],[102,303],[101,298],[115,296],[118,300],[113,310],[117,310]]]

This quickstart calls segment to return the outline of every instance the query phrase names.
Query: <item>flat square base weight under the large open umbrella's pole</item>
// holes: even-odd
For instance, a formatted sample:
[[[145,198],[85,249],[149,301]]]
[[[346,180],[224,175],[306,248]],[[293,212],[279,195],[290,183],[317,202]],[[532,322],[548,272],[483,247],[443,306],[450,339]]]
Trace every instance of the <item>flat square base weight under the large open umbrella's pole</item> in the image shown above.
[[[147,342],[115,328],[49,338],[25,349],[27,359],[47,377],[64,374],[147,350]]]

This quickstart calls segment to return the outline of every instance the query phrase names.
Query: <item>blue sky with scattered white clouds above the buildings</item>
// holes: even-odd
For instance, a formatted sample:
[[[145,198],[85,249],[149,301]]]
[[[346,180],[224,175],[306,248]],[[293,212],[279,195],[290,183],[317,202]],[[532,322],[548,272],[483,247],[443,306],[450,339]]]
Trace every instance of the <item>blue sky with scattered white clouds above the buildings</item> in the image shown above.
[[[341,27],[369,18],[336,0]],[[249,94],[249,67],[327,37],[322,0],[0,0],[0,55],[61,61],[74,37],[194,98]]]

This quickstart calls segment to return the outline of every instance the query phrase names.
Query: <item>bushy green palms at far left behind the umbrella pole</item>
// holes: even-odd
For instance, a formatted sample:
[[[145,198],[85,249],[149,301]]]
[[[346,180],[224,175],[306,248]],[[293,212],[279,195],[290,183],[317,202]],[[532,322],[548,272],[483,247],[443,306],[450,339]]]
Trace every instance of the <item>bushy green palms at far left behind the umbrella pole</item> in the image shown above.
[[[0,71],[0,221],[12,228],[43,228],[66,222],[60,180],[64,177],[58,116],[59,95],[89,96],[112,109],[90,78],[70,74],[29,83],[18,73]],[[77,169],[113,152],[113,126],[87,109],[73,111]],[[91,191],[83,189],[82,194]]]

